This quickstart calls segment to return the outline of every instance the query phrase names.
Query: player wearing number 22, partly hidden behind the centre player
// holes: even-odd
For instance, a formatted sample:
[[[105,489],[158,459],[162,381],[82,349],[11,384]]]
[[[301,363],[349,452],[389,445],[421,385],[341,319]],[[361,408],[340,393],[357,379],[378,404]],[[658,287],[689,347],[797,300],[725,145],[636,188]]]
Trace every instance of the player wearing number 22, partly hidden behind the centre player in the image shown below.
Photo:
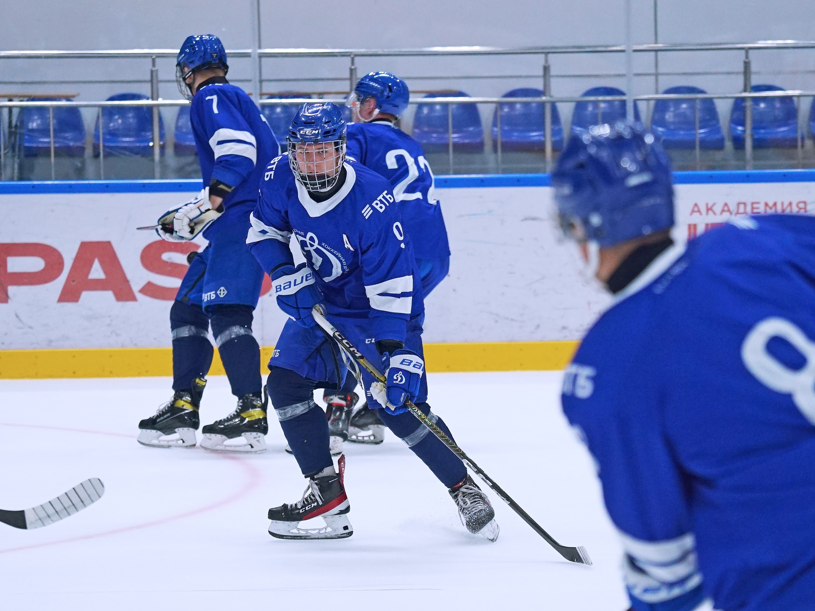
[[[346,101],[355,121],[348,125],[347,154],[390,182],[427,297],[447,276],[450,246],[425,152],[421,144],[394,125],[407,110],[409,99],[407,84],[393,74],[373,72],[360,78]],[[368,410],[363,404],[353,411],[359,400],[354,389],[355,380],[348,376],[340,391],[327,390],[323,397],[334,453],[341,452],[346,439],[359,443],[381,443],[384,439],[385,426],[377,410]]]

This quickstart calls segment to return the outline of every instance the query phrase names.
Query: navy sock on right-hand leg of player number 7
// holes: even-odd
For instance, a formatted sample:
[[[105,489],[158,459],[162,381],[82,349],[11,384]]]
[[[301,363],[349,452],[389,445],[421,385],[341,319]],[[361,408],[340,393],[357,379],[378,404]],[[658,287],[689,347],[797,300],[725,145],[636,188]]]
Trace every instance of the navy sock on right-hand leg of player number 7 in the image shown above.
[[[232,394],[260,393],[260,346],[252,335],[253,307],[212,306],[209,322]]]

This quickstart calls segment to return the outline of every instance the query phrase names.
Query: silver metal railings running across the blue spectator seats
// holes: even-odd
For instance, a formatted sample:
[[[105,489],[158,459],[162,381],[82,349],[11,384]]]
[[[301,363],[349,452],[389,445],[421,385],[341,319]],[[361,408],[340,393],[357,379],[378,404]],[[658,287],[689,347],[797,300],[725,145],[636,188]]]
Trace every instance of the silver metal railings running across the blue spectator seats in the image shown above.
[[[659,67],[657,59],[660,53],[664,52],[685,52],[685,51],[741,51],[744,54],[742,61],[742,92],[735,94],[680,94],[680,95],[664,95],[655,93],[654,95],[635,95],[632,98],[640,101],[645,101],[650,104],[660,99],[694,99],[694,114],[695,114],[695,160],[697,167],[700,165],[700,138],[699,138],[699,100],[700,99],[753,99],[753,98],[776,98],[776,97],[792,97],[795,98],[796,107],[798,111],[798,129],[796,130],[796,138],[798,141],[798,161],[802,162],[802,153],[804,147],[804,138],[802,137],[801,130],[801,100],[804,97],[811,97],[815,94],[806,90],[785,90],[785,91],[769,91],[769,92],[751,92],[751,83],[753,77],[753,70],[751,64],[751,51],[764,51],[764,50],[791,50],[791,49],[815,49],[815,41],[760,41],[760,42],[733,42],[733,43],[690,43],[690,44],[642,44],[634,45],[632,48],[633,53],[653,53],[654,54],[654,77],[655,84],[658,84]],[[363,57],[449,57],[460,55],[543,55],[544,64],[542,71],[542,81],[544,92],[543,97],[540,98],[423,98],[412,99],[411,105],[425,104],[425,103],[447,103],[447,160],[449,169],[452,172],[454,167],[453,150],[454,150],[454,137],[453,137],[453,120],[452,120],[452,103],[474,103],[474,104],[491,104],[496,105],[496,127],[498,138],[496,138],[496,161],[498,172],[503,171],[503,140],[504,138],[501,130],[502,113],[500,112],[500,104],[510,103],[543,103],[544,104],[544,160],[545,169],[547,171],[553,165],[553,139],[552,139],[552,104],[553,103],[576,103],[576,102],[604,102],[604,101],[618,101],[624,100],[623,97],[616,96],[595,96],[595,97],[577,97],[577,96],[555,96],[553,95],[552,79],[553,77],[601,77],[608,76],[603,74],[597,75],[579,75],[579,74],[558,74],[553,75],[550,55],[568,55],[568,54],[614,54],[623,53],[625,47],[622,45],[592,45],[592,46],[529,46],[529,47],[516,47],[516,48],[502,48],[491,46],[437,46],[426,47],[421,49],[260,49],[255,52],[251,50],[232,50],[227,51],[228,55],[232,58],[262,58],[262,59],[283,59],[283,58],[348,58],[350,60],[348,69],[348,83],[349,89],[355,85],[357,77],[356,59]],[[20,145],[15,140],[19,139],[20,134],[15,134],[12,121],[12,109],[14,108],[28,108],[28,107],[45,107],[49,108],[49,131],[50,131],[50,153],[51,153],[51,177],[55,177],[55,142],[54,142],[54,108],[59,107],[79,107],[79,108],[99,108],[99,177],[104,178],[104,126],[102,121],[101,108],[109,107],[149,107],[152,108],[152,162],[153,174],[155,178],[160,178],[161,174],[161,107],[183,106],[187,104],[186,100],[161,100],[159,98],[159,86],[162,82],[159,78],[159,71],[156,65],[156,60],[160,58],[174,58],[177,51],[173,49],[134,49],[122,51],[0,51],[0,59],[150,59],[150,100],[133,100],[133,101],[120,101],[120,102],[57,102],[57,101],[37,101],[37,102],[0,102],[0,112],[2,108],[8,109],[8,125],[9,134],[7,142],[0,143],[0,179],[7,178],[7,163],[6,157],[9,153],[15,153],[15,147],[19,148]],[[253,60],[253,77],[251,79],[240,79],[240,81],[253,82],[253,88],[260,89],[261,83],[265,81],[286,81],[288,79],[267,79],[260,80],[260,63]],[[257,70],[258,74],[254,74]],[[803,70],[800,73],[810,73],[813,71]],[[709,74],[738,74],[737,71],[722,71],[710,72]],[[616,74],[616,73],[615,73]],[[647,76],[650,73],[636,73]],[[664,73],[663,73],[664,74]],[[694,74],[708,74],[698,72]],[[618,75],[619,76],[619,75]],[[453,78],[453,77],[450,77]],[[295,79],[291,79],[294,81]],[[302,80],[309,80],[308,77]],[[337,81],[337,78],[331,77],[330,79]],[[59,81],[71,82],[71,81]],[[102,82],[102,81],[100,81]],[[631,87],[629,86],[629,89]],[[303,99],[264,99],[259,100],[261,105],[274,105],[274,104],[297,104],[313,100],[313,98]],[[340,100],[338,100],[340,101]],[[601,112],[598,104],[598,113]],[[754,161],[753,152],[753,133],[752,133],[752,104],[746,103],[744,108],[745,114],[745,154],[744,165],[746,168],[751,168]],[[646,122],[650,122],[647,121]],[[2,130],[0,130],[0,138],[2,138]],[[18,165],[20,154],[15,156],[14,170],[11,172],[10,178],[17,178]]]

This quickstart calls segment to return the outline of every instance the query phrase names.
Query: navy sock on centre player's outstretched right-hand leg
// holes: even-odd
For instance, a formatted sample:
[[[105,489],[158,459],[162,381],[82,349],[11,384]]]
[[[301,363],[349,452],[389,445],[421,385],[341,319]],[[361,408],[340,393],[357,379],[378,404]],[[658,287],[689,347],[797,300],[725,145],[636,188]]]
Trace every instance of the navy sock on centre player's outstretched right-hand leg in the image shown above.
[[[423,414],[429,415],[430,420],[433,420],[447,437],[453,438],[450,429],[447,429],[447,424],[444,424],[444,420],[430,411],[430,405],[416,403],[416,407]],[[450,448],[440,442],[438,437],[430,433],[430,429],[421,424],[419,420],[416,420],[416,416],[409,411],[399,415],[391,415],[385,410],[380,410],[379,415],[388,429],[407,443],[407,447],[422,459],[444,486],[452,488],[452,486],[456,486],[457,483],[467,477],[467,468],[461,462],[461,459],[453,454]]]

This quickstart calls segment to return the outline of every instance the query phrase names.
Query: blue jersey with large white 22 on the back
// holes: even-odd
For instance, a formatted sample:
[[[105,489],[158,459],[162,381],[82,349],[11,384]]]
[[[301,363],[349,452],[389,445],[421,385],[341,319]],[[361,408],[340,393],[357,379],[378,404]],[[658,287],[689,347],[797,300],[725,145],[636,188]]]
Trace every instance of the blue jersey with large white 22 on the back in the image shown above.
[[[350,123],[348,156],[390,181],[407,235],[418,259],[450,256],[433,171],[421,145],[389,121]]]

